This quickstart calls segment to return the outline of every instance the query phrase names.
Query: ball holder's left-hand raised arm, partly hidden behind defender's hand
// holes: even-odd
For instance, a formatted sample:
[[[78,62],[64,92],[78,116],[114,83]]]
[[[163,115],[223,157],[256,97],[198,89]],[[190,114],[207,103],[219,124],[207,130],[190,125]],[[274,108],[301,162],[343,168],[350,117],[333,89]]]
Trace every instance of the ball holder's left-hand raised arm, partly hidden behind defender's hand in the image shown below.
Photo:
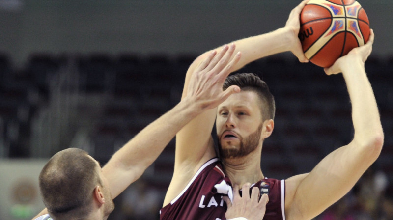
[[[300,28],[299,14],[307,2],[308,0],[302,1],[302,3],[291,11],[285,27],[266,34],[236,40],[228,44],[229,46],[225,45],[214,49],[221,50],[221,52],[218,54],[217,59],[213,61],[217,62],[219,57],[223,56],[225,52],[227,52],[225,55],[233,57],[237,52],[241,51],[242,59],[232,67],[231,72],[233,72],[262,57],[291,51],[300,61],[307,62],[308,60],[303,54],[302,46],[298,38]],[[236,47],[234,47],[234,45],[236,45]],[[184,83],[183,97],[187,94],[188,83],[194,70],[210,53],[211,51],[208,51],[200,55],[190,65]],[[176,135],[175,170],[172,182],[187,182],[188,179],[192,178],[194,171],[196,171],[200,165],[215,156],[211,131],[216,113],[216,109],[203,112]],[[183,180],[177,180],[178,176]],[[179,184],[174,185],[176,185],[174,187],[176,189],[182,188]],[[172,186],[170,186],[169,191],[171,188]]]

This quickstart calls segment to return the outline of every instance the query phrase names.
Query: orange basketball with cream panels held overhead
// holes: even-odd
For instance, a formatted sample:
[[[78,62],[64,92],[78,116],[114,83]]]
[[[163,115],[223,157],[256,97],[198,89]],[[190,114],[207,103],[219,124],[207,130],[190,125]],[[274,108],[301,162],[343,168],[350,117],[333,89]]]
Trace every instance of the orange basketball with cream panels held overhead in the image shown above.
[[[369,35],[367,14],[355,0],[310,0],[300,14],[303,52],[321,67],[364,45]]]

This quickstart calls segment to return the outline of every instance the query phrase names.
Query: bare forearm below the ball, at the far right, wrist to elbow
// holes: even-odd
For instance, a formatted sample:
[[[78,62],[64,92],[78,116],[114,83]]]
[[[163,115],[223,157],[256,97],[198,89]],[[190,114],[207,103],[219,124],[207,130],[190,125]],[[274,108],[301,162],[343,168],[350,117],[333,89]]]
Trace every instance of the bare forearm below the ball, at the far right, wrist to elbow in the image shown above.
[[[343,76],[352,103],[354,141],[361,145],[376,144],[382,147],[383,130],[379,111],[362,60],[347,62]]]

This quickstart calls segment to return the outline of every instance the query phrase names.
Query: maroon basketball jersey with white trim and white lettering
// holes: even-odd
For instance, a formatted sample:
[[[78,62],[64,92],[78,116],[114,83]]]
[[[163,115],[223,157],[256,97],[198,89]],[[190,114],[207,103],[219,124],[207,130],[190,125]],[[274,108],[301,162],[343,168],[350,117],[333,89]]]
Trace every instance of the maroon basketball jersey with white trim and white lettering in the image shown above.
[[[231,191],[221,163],[214,158],[202,165],[186,188],[160,210],[160,219],[225,220],[226,203],[222,198],[226,194],[218,192],[217,186],[221,189],[227,186]],[[269,195],[263,220],[285,220],[284,181],[266,178],[253,186],[257,186],[260,193]]]

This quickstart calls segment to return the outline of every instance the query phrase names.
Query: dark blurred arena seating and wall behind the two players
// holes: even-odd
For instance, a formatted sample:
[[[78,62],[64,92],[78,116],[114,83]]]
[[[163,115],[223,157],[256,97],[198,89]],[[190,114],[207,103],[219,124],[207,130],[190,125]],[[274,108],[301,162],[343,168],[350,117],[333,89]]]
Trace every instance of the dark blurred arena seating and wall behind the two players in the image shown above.
[[[359,2],[376,35],[366,72],[385,144],[355,188],[317,220],[393,219],[393,2]],[[0,219],[27,220],[44,208],[38,174],[57,151],[79,147],[105,164],[180,100],[185,72],[197,55],[283,27],[298,3],[0,0]],[[341,75],[327,77],[287,53],[240,72],[259,74],[276,98],[275,131],[262,152],[265,176],[309,172],[351,140]],[[115,199],[109,220],[158,219],[174,143]]]

